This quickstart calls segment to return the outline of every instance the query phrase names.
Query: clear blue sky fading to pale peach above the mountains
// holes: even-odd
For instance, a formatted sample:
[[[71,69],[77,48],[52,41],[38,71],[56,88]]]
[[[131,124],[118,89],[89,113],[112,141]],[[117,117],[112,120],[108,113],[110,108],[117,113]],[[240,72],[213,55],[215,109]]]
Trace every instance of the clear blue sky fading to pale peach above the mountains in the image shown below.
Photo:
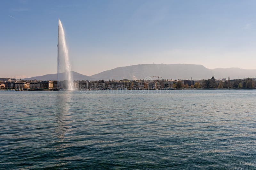
[[[0,77],[57,72],[58,18],[72,70],[144,63],[256,69],[256,1],[0,1]]]

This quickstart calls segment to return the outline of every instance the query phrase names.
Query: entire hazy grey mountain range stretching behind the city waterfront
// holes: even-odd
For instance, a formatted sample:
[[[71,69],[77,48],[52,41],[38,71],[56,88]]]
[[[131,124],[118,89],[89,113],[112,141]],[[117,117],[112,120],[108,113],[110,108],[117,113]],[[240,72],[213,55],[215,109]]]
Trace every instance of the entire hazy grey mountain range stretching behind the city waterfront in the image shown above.
[[[73,80],[140,80],[147,76],[162,76],[163,79],[231,79],[256,77],[256,69],[242,68],[215,68],[209,69],[196,64],[139,64],[126,67],[117,67],[92,76],[72,71]],[[59,80],[65,78],[65,73],[59,74]],[[57,80],[57,74],[46,74],[23,80]]]

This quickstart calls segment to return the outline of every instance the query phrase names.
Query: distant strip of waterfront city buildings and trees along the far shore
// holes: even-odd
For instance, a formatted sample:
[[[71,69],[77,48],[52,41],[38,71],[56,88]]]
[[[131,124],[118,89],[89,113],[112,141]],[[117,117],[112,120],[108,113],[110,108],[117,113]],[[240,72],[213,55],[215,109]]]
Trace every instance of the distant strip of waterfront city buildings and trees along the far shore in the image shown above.
[[[162,77],[153,76],[145,77],[142,80],[82,80],[73,81],[74,90],[155,90],[155,89],[256,89],[256,78],[233,79],[228,77],[222,79],[202,80],[172,80],[160,79]],[[70,90],[67,80],[63,81],[40,81],[40,80],[12,80],[10,78],[2,78],[0,80],[0,89],[17,91],[42,91],[42,90]]]

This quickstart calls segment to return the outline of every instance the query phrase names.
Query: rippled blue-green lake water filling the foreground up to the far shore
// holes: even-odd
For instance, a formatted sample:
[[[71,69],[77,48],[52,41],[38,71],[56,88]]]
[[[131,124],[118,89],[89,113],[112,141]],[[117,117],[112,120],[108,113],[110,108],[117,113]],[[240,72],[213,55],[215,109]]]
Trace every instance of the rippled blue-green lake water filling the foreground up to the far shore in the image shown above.
[[[6,169],[256,169],[256,90],[0,91]]]

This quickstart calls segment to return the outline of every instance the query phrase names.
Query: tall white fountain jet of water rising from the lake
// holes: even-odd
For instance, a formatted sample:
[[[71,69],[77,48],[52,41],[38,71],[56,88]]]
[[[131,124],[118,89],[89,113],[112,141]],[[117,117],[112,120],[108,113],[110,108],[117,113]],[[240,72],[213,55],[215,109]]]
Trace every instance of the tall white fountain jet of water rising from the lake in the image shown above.
[[[58,26],[58,88],[59,73],[66,73],[65,79],[68,80],[68,90],[73,90],[73,80],[71,75],[71,66],[68,57],[68,47],[65,39],[65,32],[59,18]]]

